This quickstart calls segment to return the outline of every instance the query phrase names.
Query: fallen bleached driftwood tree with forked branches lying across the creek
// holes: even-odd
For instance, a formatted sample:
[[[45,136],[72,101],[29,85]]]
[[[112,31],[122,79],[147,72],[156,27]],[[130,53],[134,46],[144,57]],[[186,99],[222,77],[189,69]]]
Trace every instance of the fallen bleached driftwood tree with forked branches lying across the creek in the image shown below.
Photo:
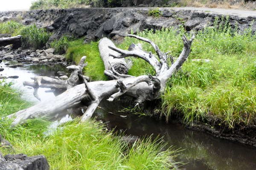
[[[139,77],[134,77],[131,75],[124,75],[116,72],[112,66],[111,70],[105,70],[104,74],[113,80],[88,83],[86,78],[81,74],[82,68],[87,65],[86,63],[84,64],[86,58],[84,56],[81,58],[78,66],[67,67],[67,69],[72,70],[72,74],[67,81],[48,77],[35,77],[32,78],[35,80],[32,83],[24,82],[24,85],[34,87],[35,96],[39,87],[67,90],[55,98],[51,98],[33,107],[9,115],[9,118],[14,118],[13,125],[23,123],[28,118],[49,116],[55,112],[71,108],[79,102],[83,102],[88,106],[84,115],[81,117],[81,121],[87,121],[93,115],[93,112],[102,99],[113,101],[120,95],[128,95],[135,98],[136,104],[140,104],[145,100],[152,101],[157,99],[160,96],[160,92],[163,92],[168,79],[188,58],[189,53],[191,52],[190,47],[195,36],[192,33],[192,38],[190,40],[187,40],[185,35],[183,36],[183,51],[175,62],[173,62],[172,56],[168,55],[168,52],[161,52],[158,46],[151,40],[136,35],[127,36],[150,43],[157,53],[158,59],[152,52],[145,52],[134,43],[129,47],[129,51],[119,49],[113,45],[108,46],[111,50],[106,50],[107,53],[109,52],[107,55],[113,58],[125,58],[128,56],[141,58],[154,67],[157,73],[156,76],[141,75]],[[99,46],[101,46],[101,44],[99,44]],[[106,54],[106,51],[100,49],[101,53]],[[169,66],[169,63],[171,63],[171,66]]]

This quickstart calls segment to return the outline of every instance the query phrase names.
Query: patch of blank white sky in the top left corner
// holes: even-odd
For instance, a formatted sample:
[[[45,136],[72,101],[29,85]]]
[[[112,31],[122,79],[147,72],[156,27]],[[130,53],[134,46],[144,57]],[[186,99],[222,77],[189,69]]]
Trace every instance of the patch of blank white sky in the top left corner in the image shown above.
[[[29,9],[34,0],[0,0],[0,11]]]

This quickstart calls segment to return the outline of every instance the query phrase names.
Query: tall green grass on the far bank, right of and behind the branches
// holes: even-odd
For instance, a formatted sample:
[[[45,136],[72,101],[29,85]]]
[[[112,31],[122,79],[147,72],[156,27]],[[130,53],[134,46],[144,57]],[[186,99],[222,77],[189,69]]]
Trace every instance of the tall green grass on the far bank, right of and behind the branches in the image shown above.
[[[173,113],[178,113],[186,122],[215,120],[219,125],[228,127],[256,123],[256,36],[251,34],[251,29],[242,35],[236,29],[230,28],[225,19],[222,22],[223,26],[218,27],[216,19],[215,26],[198,32],[189,59],[183,65],[183,71],[170,79],[166,92],[162,95],[160,107],[160,114],[167,121]],[[139,35],[153,40],[160,50],[171,51],[171,55],[177,58],[183,49],[183,33],[181,31],[176,35],[176,30],[171,28],[156,32],[144,31]],[[128,49],[131,43],[142,43],[145,51],[154,51],[148,43],[131,37],[125,37],[119,47]],[[74,48],[80,48],[79,44]],[[95,58],[99,58],[95,43],[90,49],[95,52]],[[204,59],[210,61],[204,62]],[[134,64],[128,74],[154,75],[153,68],[145,61],[138,58],[131,60]],[[98,62],[100,63],[97,61],[96,66]],[[102,63],[97,69],[98,67],[101,67],[103,73]]]

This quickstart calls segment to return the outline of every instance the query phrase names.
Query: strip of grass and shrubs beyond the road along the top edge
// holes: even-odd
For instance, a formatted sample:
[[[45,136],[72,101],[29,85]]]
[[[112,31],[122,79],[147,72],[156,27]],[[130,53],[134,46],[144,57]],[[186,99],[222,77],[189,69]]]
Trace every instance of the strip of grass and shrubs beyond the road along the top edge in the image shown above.
[[[65,8],[88,8],[88,7],[120,7],[125,1],[119,0],[35,0],[30,6],[30,10],[34,9],[65,9]],[[169,1],[163,0],[158,3],[159,7],[204,7],[204,8],[224,8],[224,9],[249,9],[255,10],[256,5],[253,1],[241,0],[234,3],[233,0],[179,0]],[[149,4],[148,7],[154,7]]]

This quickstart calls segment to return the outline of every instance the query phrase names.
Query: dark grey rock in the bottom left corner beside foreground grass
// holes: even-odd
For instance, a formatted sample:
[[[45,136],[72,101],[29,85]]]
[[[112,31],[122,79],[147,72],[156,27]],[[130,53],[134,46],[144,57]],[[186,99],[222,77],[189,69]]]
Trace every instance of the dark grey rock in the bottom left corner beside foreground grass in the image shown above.
[[[49,170],[47,158],[43,155],[28,157],[25,154],[6,155],[0,153],[0,170]]]

